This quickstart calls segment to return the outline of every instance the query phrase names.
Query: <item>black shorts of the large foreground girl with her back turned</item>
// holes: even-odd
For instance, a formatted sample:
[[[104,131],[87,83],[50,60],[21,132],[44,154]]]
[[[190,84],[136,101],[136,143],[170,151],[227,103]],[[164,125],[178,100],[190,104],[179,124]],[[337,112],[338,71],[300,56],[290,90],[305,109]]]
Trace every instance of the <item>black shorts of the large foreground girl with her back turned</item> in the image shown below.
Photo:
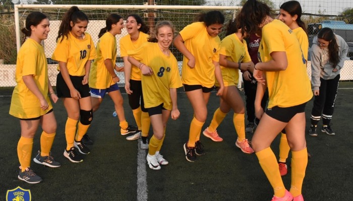
[[[272,117],[273,119],[288,123],[291,120],[291,118],[293,118],[298,113],[305,112],[306,104],[307,103],[304,103],[298,106],[288,107],[288,108],[280,108],[278,106],[275,106],[273,108],[268,108],[265,113],[268,116]]]

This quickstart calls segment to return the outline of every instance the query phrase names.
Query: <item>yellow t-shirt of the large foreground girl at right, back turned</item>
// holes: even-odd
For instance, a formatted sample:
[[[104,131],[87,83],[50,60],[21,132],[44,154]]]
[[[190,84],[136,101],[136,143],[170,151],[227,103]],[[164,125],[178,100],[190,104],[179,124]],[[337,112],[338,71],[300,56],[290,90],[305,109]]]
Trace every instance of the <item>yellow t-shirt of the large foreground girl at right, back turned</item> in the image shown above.
[[[262,28],[259,61],[271,60],[271,52],[285,52],[288,66],[285,70],[265,72],[268,108],[287,108],[308,102],[313,93],[299,41],[293,31],[279,20],[273,20]]]

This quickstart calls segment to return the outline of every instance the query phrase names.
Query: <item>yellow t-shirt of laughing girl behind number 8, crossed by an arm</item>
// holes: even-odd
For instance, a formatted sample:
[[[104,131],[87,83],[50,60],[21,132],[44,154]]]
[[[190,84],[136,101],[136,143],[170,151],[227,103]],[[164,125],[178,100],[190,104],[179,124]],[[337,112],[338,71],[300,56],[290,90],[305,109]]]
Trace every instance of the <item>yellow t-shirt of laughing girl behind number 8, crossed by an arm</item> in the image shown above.
[[[124,36],[122,39],[120,39],[121,57],[128,56],[129,50],[136,50],[140,48],[142,44],[147,42],[148,38],[149,35],[143,32],[140,32],[139,38],[134,42],[131,41],[131,37],[129,34]],[[130,79],[141,80],[141,70],[137,66],[132,65]]]

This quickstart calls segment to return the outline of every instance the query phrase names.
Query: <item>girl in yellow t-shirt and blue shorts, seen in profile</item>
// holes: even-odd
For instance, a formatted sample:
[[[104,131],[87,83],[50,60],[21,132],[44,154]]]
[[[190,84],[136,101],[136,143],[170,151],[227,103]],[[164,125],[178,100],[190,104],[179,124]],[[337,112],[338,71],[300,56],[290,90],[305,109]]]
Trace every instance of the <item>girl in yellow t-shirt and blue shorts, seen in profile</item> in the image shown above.
[[[123,17],[117,14],[110,14],[105,20],[106,27],[101,29],[97,43],[97,59],[94,60],[89,73],[89,86],[91,88],[91,100],[93,112],[97,111],[103,101],[105,93],[111,97],[114,102],[115,111],[119,119],[119,126],[122,135],[136,132],[137,128],[129,126],[125,119],[123,108],[124,99],[119,90],[117,82],[119,77],[116,71],[123,71],[115,65],[116,59],[116,34],[121,34],[124,28]]]

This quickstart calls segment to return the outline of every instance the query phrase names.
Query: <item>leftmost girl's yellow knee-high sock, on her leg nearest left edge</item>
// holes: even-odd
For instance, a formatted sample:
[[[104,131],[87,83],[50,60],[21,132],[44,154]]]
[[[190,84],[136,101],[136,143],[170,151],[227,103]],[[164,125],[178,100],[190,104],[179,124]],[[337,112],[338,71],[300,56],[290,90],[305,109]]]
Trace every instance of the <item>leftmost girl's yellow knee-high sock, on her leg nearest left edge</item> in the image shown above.
[[[31,165],[32,148],[33,138],[25,138],[21,136],[17,144],[17,155],[21,164],[22,172]]]

